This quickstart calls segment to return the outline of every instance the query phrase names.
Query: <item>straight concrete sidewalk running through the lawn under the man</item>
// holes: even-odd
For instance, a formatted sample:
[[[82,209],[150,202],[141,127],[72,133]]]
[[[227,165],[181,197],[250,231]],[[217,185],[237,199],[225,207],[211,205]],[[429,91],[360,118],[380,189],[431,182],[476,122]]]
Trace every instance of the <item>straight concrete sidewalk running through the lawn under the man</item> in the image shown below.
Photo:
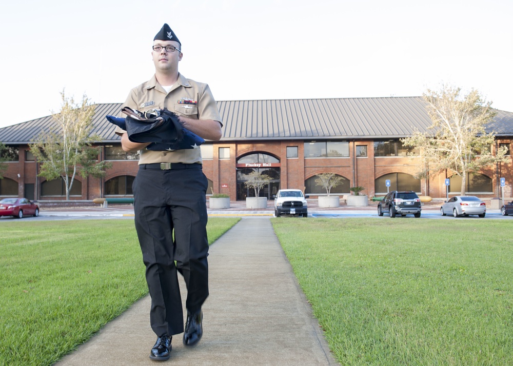
[[[194,348],[173,337],[168,363],[330,365],[318,322],[267,217],[241,219],[210,247],[204,335]],[[141,262],[141,266],[143,263]],[[185,284],[180,277],[185,302]],[[137,301],[57,365],[155,365],[150,299]],[[184,306],[185,308],[185,306]]]

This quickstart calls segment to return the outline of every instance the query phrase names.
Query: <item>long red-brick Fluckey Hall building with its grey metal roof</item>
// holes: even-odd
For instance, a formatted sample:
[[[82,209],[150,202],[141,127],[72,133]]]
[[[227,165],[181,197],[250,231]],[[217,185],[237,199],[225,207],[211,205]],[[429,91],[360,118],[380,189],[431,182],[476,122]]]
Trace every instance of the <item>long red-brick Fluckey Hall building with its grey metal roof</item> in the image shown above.
[[[418,158],[408,156],[409,149],[400,139],[421,132],[431,125],[421,97],[333,98],[290,100],[218,101],[223,119],[220,141],[201,146],[203,171],[209,179],[208,194],[225,193],[232,200],[254,195],[244,186],[245,175],[259,170],[273,180],[261,191],[272,197],[280,188],[305,189],[312,197],[326,194],[315,185],[315,175],[333,172],[342,176],[342,185],[331,194],[349,194],[349,188],[362,186],[372,197],[390,190],[413,190],[420,195],[445,197],[445,178],[449,191],[459,194],[461,179],[445,172],[428,179],[416,179]],[[78,176],[71,199],[131,197],[131,183],[137,172],[137,153],[125,153],[119,136],[106,120],[118,115],[121,104],[96,105],[92,133],[102,136],[100,159],[112,162],[102,179]],[[8,169],[0,179],[1,196],[19,196],[37,200],[65,199],[61,179],[47,181],[38,176],[28,144],[42,129],[53,124],[51,116],[0,129],[0,141],[8,146]],[[499,146],[511,148],[513,113],[498,111],[489,126]],[[480,197],[499,196],[499,179],[505,177],[504,194],[511,197],[513,164],[487,167],[471,173],[467,192]]]

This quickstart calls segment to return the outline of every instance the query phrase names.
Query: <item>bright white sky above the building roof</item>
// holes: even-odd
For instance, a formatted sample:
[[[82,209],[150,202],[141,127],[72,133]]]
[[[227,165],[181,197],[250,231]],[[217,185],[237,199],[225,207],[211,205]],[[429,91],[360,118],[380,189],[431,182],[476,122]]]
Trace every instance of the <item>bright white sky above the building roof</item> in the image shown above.
[[[122,103],[168,23],[216,100],[420,96],[450,83],[513,112],[513,1],[18,0],[2,5],[0,127],[60,92]]]

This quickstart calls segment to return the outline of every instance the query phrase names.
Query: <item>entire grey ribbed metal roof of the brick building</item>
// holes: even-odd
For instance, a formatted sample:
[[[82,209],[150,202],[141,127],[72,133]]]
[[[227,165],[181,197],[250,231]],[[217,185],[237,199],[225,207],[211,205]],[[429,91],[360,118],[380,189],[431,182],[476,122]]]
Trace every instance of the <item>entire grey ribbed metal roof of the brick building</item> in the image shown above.
[[[119,142],[106,115],[119,115],[121,103],[97,104],[94,129],[103,143]],[[401,138],[431,126],[422,97],[272,99],[218,101],[221,140]],[[497,111],[489,131],[513,136],[513,112]],[[0,129],[4,144],[28,144],[54,124],[46,116]]]

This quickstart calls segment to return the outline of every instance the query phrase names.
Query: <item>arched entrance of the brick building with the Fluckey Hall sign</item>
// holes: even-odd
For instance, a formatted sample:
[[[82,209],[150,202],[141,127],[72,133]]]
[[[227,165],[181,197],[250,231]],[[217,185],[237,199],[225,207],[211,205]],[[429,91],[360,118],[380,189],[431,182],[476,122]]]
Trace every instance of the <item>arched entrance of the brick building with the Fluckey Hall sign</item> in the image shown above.
[[[254,189],[246,187],[247,175],[259,172],[271,177],[269,184],[262,188],[259,197],[271,199],[280,189],[280,160],[265,153],[251,153],[237,159],[237,200],[245,200],[246,197],[254,197]]]

